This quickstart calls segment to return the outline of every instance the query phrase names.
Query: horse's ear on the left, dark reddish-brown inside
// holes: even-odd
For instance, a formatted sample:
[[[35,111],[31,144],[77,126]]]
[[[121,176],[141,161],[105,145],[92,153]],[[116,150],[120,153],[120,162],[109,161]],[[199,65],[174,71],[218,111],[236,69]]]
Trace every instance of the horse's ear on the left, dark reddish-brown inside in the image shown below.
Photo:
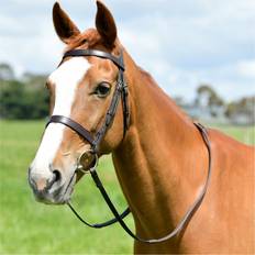
[[[71,37],[80,33],[58,2],[55,2],[53,7],[53,23],[57,35],[64,43],[68,43]]]

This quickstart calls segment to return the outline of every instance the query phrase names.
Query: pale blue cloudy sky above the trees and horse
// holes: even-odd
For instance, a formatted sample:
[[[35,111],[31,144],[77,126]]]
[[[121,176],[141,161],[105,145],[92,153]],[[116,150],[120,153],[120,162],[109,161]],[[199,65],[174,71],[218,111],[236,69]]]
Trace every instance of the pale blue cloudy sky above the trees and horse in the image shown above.
[[[53,0],[8,0],[0,8],[0,63],[16,74],[51,74],[64,49]],[[62,0],[84,31],[95,0]],[[192,100],[211,85],[225,100],[255,95],[255,0],[104,0],[134,60],[171,97]]]

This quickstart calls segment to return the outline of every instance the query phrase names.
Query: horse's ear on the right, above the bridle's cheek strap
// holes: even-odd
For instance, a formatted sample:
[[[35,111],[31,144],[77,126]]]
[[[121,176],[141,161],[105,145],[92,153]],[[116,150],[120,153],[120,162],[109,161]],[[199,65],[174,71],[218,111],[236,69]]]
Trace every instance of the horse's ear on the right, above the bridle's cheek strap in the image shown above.
[[[113,47],[117,38],[117,26],[111,12],[101,2],[97,1],[97,16],[96,16],[96,27],[102,37],[103,44],[107,47]]]

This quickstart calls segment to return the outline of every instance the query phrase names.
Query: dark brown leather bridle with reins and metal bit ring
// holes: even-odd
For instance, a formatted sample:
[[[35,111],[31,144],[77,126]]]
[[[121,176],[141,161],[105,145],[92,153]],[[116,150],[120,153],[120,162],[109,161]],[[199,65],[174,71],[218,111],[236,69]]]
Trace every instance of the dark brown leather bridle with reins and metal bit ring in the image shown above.
[[[85,138],[91,145],[91,151],[89,153],[91,153],[95,156],[93,165],[90,166],[89,169],[85,169],[84,166],[80,164],[80,159],[79,159],[76,171],[91,174],[91,177],[92,177],[96,186],[99,188],[104,201],[107,202],[107,204],[108,204],[109,209],[111,210],[112,214],[114,215],[114,218],[107,221],[107,222],[103,222],[103,223],[90,224],[78,214],[78,212],[74,209],[74,207],[71,206],[70,202],[67,202],[67,204],[69,206],[71,211],[75,213],[75,215],[82,223],[85,223],[86,225],[88,225],[90,228],[100,229],[100,228],[111,225],[115,222],[119,222],[120,225],[123,228],[123,230],[129,235],[131,235],[133,239],[135,239],[136,241],[140,241],[140,242],[151,243],[151,244],[164,242],[164,241],[167,241],[167,240],[176,236],[182,230],[185,230],[185,228],[188,224],[188,222],[190,221],[191,217],[193,215],[196,210],[201,204],[203,197],[207,192],[208,186],[209,186],[209,180],[210,180],[210,176],[211,176],[211,145],[210,145],[207,130],[200,123],[195,123],[195,125],[198,127],[198,130],[201,133],[202,140],[208,148],[208,155],[209,155],[208,175],[207,175],[207,179],[206,179],[203,189],[201,190],[199,197],[196,199],[196,201],[192,203],[192,206],[189,208],[189,210],[182,217],[182,219],[180,220],[178,225],[175,228],[175,230],[171,231],[166,236],[160,237],[160,239],[145,240],[145,239],[142,239],[142,237],[135,235],[129,229],[129,226],[125,224],[125,222],[123,221],[123,219],[130,213],[130,209],[127,208],[121,214],[118,212],[118,210],[115,209],[114,204],[112,203],[110,197],[108,196],[108,193],[107,193],[107,191],[106,191],[106,189],[104,189],[104,187],[103,187],[103,185],[102,185],[102,182],[97,174],[99,146],[100,146],[100,143],[101,143],[102,138],[104,137],[107,131],[110,129],[110,126],[114,120],[114,117],[117,113],[117,108],[118,108],[120,100],[122,100],[122,111],[123,111],[123,137],[125,136],[125,132],[129,129],[129,123],[130,123],[130,110],[129,110],[129,102],[127,102],[129,91],[127,91],[127,85],[125,84],[125,80],[124,80],[125,68],[124,68],[124,62],[123,62],[123,54],[121,52],[120,56],[115,57],[112,54],[101,52],[98,49],[73,49],[73,51],[65,53],[63,56],[63,59],[66,57],[78,57],[78,56],[96,56],[96,57],[100,57],[100,58],[110,59],[119,68],[117,86],[115,86],[115,89],[113,92],[113,97],[112,97],[110,107],[107,111],[104,122],[101,125],[101,127],[99,129],[99,131],[96,133],[96,135],[92,135],[91,132],[86,130],[82,125],[80,125],[76,121],[74,121],[67,117],[64,117],[64,115],[52,115],[49,121],[47,122],[46,126],[49,123],[62,123],[62,124],[70,127],[71,130],[74,130],[76,133],[78,133],[82,138]],[[87,152],[85,152],[85,155],[81,155],[81,157],[82,156],[86,157],[87,156],[86,153]]]

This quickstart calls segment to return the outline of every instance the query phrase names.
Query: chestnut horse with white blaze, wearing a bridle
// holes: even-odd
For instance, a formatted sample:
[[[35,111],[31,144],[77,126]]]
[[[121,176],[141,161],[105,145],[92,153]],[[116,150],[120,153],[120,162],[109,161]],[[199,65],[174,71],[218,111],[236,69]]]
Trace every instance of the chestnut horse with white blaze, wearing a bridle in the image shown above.
[[[136,235],[160,239],[201,195],[210,165],[206,196],[181,231],[164,242],[135,240],[134,253],[254,253],[254,148],[217,130],[207,129],[206,135],[204,129],[198,129],[135,64],[101,1],[97,1],[96,29],[80,32],[58,2],[53,23],[66,48],[46,81],[55,119],[48,122],[29,168],[35,198],[68,203],[86,173],[77,170],[84,155],[86,168],[95,160],[92,147],[99,157],[111,153]]]

